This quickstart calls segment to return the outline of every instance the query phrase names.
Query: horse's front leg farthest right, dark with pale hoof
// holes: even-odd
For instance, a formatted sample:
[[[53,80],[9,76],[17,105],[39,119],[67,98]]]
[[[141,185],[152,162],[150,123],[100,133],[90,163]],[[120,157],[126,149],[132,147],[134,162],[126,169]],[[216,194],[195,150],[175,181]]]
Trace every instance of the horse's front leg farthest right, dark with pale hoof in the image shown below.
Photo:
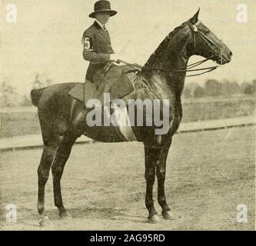
[[[161,214],[165,219],[172,219],[173,215],[171,214],[171,209],[168,207],[165,198],[165,175],[166,175],[166,160],[168,157],[168,151],[171,146],[165,146],[162,148],[159,155],[159,162],[157,165],[157,178],[158,178],[158,203],[162,208]]]

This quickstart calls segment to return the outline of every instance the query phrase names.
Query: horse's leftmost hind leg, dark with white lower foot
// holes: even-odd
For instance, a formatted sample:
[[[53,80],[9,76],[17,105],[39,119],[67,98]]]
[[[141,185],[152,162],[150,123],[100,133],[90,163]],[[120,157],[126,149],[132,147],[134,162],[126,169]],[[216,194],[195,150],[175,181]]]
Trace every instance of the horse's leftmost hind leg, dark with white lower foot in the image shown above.
[[[56,149],[54,145],[44,145],[42,158],[38,166],[38,213],[41,218],[40,225],[50,223],[45,216],[45,184],[48,181],[49,171],[55,158]]]

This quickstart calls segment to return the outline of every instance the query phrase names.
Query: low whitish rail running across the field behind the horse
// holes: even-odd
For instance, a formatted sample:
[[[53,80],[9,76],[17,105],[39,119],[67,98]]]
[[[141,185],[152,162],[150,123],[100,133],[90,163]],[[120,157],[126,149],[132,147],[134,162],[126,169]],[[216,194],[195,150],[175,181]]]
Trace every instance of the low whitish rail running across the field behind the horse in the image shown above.
[[[250,126],[256,124],[254,116],[243,118],[227,118],[214,121],[198,121],[190,123],[181,123],[178,133],[192,131],[210,131],[224,128],[234,128],[242,126]],[[94,140],[82,136],[78,138],[76,143],[95,143]],[[0,139],[0,151],[15,151],[18,149],[41,148],[43,145],[41,135],[26,135],[12,138]]]

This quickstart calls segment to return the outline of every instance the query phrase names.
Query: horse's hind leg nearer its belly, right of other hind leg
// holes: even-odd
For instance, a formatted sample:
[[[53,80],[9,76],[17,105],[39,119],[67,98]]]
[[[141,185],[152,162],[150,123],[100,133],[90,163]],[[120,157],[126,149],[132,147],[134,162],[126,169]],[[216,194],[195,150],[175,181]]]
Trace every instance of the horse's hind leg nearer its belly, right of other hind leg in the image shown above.
[[[52,178],[53,178],[53,191],[55,206],[58,208],[60,218],[71,217],[66,211],[62,203],[62,189],[61,189],[61,178],[65,168],[65,164],[68,161],[68,157],[71,153],[71,148],[75,143],[76,138],[65,136],[62,138],[58,150],[55,155],[55,160],[52,165]]]

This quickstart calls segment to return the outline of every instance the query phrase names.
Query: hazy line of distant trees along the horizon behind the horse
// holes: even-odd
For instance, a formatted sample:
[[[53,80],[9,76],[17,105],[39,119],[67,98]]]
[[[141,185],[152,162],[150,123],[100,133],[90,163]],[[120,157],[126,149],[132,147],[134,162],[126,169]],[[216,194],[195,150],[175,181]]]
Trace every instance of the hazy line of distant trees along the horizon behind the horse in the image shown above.
[[[43,88],[52,85],[53,81],[45,75],[36,73],[35,79],[31,82],[31,88]],[[256,79],[251,82],[244,81],[239,84],[237,81],[218,81],[216,79],[208,79],[204,85],[197,82],[185,84],[183,91],[184,98],[204,98],[231,95],[255,95]],[[15,106],[32,106],[31,99],[27,95],[19,98],[17,89],[12,85],[8,78],[2,79],[1,82],[1,105],[2,107]]]

